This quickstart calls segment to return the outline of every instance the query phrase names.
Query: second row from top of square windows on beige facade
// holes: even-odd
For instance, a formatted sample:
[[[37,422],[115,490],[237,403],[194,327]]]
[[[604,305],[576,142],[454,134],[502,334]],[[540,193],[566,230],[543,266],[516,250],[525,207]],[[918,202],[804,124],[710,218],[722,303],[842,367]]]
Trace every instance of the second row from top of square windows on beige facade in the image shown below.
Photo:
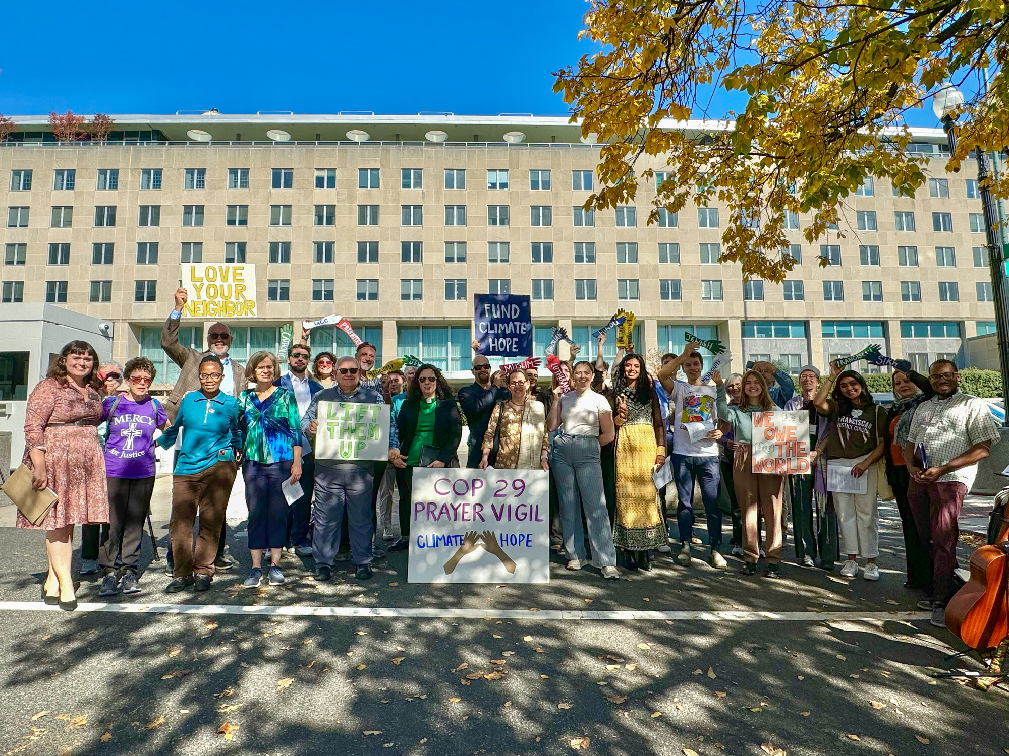
[[[228,226],[248,226],[249,206],[248,205],[227,205],[225,223]],[[378,225],[378,205],[358,205],[357,225],[377,226]],[[205,205],[184,205],[183,206],[183,226],[203,226],[206,214]],[[292,212],[291,205],[270,205],[269,225],[270,226],[291,226]],[[554,210],[550,205],[533,205],[530,211],[530,226],[553,226]],[[28,207],[8,207],[7,208],[7,228],[28,228],[30,209]],[[982,213],[968,214],[971,233],[985,233],[985,217]],[[73,206],[54,206],[49,209],[49,226],[51,228],[69,228],[73,225]],[[572,208],[572,224],[576,227],[594,226],[595,214],[591,210],[582,208]],[[466,206],[446,205],[444,206],[445,226],[465,226]],[[856,223],[860,231],[878,231],[876,211],[860,210],[856,212]],[[160,226],[161,206],[160,205],[140,205],[137,212],[137,226]],[[95,207],[95,227],[102,228],[116,225],[116,206],[99,205]],[[313,212],[313,225],[315,226],[335,226],[336,225],[336,205],[316,205]],[[424,206],[423,205],[401,205],[400,206],[401,226],[423,226]],[[511,226],[511,206],[488,205],[487,206],[487,226]],[[621,207],[614,211],[614,225],[616,228],[637,228],[638,210],[634,207]],[[659,211],[659,220],[656,224],[659,228],[678,228],[679,218],[676,213],[670,213],[664,208]],[[756,224],[752,224],[756,225]],[[697,226],[702,229],[719,228],[717,208],[698,208]],[[896,231],[915,231],[915,221],[913,212],[895,212],[894,227]],[[798,229],[799,218],[791,212],[785,214],[785,228]],[[932,231],[937,233],[952,232],[952,214],[932,213]]]

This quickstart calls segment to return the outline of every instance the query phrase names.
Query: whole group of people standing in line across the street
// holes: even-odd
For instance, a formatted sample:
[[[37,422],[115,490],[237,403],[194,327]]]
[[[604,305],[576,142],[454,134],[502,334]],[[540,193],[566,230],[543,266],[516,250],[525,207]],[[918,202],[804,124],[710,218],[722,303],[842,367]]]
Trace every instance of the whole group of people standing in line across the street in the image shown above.
[[[175,455],[166,588],[175,593],[207,591],[217,570],[232,566],[224,552],[225,513],[239,467],[248,507],[246,588],[263,580],[283,585],[286,548],[312,557],[315,580],[330,580],[345,541],[355,578],[368,580],[373,560],[385,556],[381,538],[394,538],[390,494],[399,494],[401,535],[387,546],[395,552],[410,546],[414,470],[459,466],[465,417],[467,467],[549,471],[551,539],[568,570],[591,563],[604,579],[618,578],[619,565],[649,571],[660,555],[672,555],[677,540],[675,561],[689,566],[696,485],[712,568],[728,565],[724,513],[741,572],[756,574],[764,557],[764,576],[780,577],[787,490],[798,561],[825,570],[843,561],[840,574],[854,578],[863,558],[863,577],[878,580],[882,494],[896,498],[900,511],[905,585],[927,592],[921,606],[933,610],[934,620],[955,589],[964,495],[976,464],[999,437],[985,402],[960,392],[957,367],[944,360],[927,377],[898,361],[895,401],[885,409],[861,374],[833,363],[825,379],[814,366],[803,367],[798,393],[767,362],[725,379],[712,371],[708,382],[694,343],[680,355],[664,355],[654,376],[633,345],[618,351],[610,371],[603,334],[594,363],[575,361],[577,348],[571,361],[555,361],[551,390],[539,388],[535,368],[494,373],[476,354],[475,380],[456,397],[430,364],[367,377],[376,356],[367,343],[353,357],[323,352],[313,362],[308,332],[291,348],[283,375],[269,352],[257,352],[244,366],[232,360],[224,324],[208,330],[207,351],[182,347],[177,337],[186,301],[181,288],[162,331],[162,347],[180,367],[163,404],[149,395],[156,377],[150,360],[135,358],[121,370],[100,366],[85,342],[68,344],[29,397],[25,463],[33,485],[58,496],[40,525],[49,562],[41,589],[46,603],[76,607],[75,524],[85,526],[86,549],[100,541],[93,566],[104,574],[100,595],[141,591],[157,430],[163,432],[156,444]],[[320,401],[389,404],[387,463],[314,459]],[[782,408],[809,413],[808,475],[752,470],[751,415]],[[96,431],[103,424],[104,433]],[[831,466],[864,477],[865,493],[830,490]],[[655,483],[663,468],[676,488],[675,512]],[[107,524],[99,530],[98,523]],[[18,526],[31,527],[21,516]],[[92,569],[91,554],[84,555]]]

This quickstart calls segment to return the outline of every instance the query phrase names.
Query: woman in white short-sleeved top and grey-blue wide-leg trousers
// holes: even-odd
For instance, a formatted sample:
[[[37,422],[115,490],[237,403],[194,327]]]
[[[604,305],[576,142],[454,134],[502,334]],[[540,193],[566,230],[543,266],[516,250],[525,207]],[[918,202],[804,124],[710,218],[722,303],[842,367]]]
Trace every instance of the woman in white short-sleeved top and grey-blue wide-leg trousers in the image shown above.
[[[592,564],[602,570],[603,578],[615,580],[616,549],[599,465],[599,447],[613,439],[613,411],[609,402],[591,389],[592,376],[592,366],[579,362],[572,375],[574,390],[564,393],[560,386],[554,389],[547,427],[551,431],[560,428],[560,432],[554,438],[550,466],[560,497],[567,569],[581,570],[585,561],[584,511]]]

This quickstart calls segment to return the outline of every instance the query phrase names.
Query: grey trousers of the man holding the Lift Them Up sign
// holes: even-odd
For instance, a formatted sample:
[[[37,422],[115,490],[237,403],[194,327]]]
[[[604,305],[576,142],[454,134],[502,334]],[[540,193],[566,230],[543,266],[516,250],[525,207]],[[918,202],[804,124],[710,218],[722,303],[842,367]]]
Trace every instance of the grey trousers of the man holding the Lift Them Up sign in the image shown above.
[[[371,563],[374,516],[371,511],[373,466],[316,464],[316,503],[312,557],[317,564],[333,566],[340,550],[340,523],[344,512],[350,535],[350,556],[355,564]]]

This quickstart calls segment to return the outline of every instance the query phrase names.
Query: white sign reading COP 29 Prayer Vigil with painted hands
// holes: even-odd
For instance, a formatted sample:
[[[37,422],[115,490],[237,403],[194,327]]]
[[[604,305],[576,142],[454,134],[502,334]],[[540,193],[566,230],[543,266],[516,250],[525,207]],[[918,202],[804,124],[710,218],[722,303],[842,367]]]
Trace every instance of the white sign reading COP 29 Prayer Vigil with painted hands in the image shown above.
[[[411,583],[549,583],[550,474],[416,468]]]

